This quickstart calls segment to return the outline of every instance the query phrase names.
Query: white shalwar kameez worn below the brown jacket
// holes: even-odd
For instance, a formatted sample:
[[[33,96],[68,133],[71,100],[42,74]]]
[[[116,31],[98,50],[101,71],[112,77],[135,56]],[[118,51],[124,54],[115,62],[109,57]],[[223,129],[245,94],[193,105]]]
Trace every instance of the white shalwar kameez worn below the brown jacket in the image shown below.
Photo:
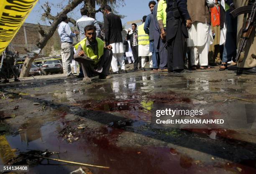
[[[211,25],[196,21],[188,34],[187,46],[191,51],[191,65],[208,66],[209,47],[213,43]]]

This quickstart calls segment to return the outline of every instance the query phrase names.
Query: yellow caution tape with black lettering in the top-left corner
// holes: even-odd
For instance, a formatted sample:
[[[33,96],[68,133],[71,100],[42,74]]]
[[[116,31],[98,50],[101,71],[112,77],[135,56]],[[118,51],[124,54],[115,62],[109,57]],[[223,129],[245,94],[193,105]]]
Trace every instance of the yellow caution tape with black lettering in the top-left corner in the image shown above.
[[[1,0],[0,54],[25,22],[38,0]]]

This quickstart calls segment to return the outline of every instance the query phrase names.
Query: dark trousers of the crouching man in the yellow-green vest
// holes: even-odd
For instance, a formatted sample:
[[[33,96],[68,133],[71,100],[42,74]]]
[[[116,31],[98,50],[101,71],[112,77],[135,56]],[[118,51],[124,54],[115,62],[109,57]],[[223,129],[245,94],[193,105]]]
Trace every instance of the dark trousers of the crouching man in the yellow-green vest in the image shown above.
[[[107,76],[110,70],[112,56],[113,56],[112,50],[105,49],[104,55],[101,56],[100,61],[96,65],[88,61],[81,62],[83,66],[84,77],[86,76],[93,77],[100,74]],[[101,68],[102,68],[101,73],[95,72],[95,70],[101,69]]]

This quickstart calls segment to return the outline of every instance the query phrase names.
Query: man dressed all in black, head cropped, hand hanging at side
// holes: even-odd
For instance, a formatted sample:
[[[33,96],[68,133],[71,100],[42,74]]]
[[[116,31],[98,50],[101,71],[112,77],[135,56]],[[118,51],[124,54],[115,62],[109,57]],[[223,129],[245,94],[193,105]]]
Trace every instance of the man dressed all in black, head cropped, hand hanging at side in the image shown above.
[[[184,70],[187,28],[192,25],[187,11],[187,0],[167,0],[166,12],[168,71],[180,73]]]

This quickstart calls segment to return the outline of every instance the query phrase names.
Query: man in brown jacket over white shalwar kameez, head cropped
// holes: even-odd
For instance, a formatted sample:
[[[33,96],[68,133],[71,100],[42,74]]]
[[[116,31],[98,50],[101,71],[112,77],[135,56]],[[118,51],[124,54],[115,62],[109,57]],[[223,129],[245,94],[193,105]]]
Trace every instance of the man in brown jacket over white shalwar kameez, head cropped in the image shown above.
[[[187,10],[192,19],[192,27],[188,30],[187,46],[190,47],[192,69],[207,69],[208,52],[213,43],[210,9],[215,0],[187,0]]]

